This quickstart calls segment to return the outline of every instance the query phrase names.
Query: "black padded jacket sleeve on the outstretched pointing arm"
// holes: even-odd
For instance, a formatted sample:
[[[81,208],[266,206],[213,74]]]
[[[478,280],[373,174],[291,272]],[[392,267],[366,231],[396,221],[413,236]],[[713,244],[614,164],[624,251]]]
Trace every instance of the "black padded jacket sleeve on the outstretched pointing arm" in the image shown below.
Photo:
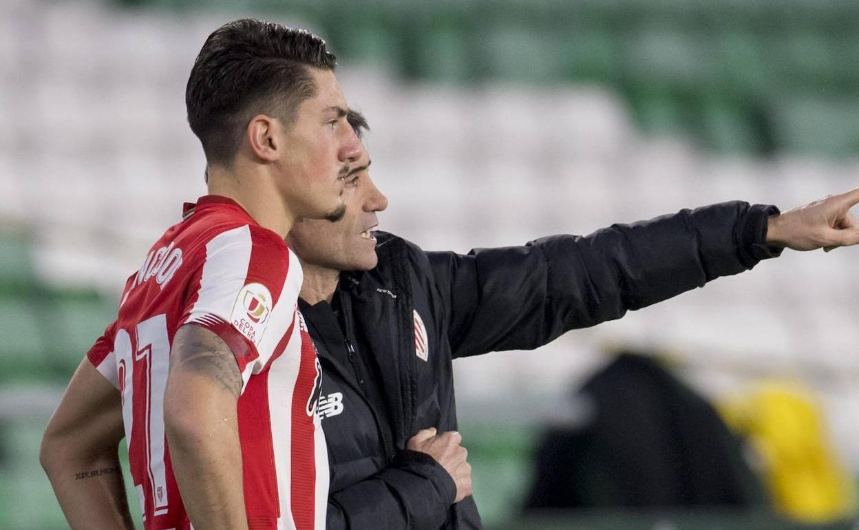
[[[775,206],[712,204],[524,247],[427,253],[453,354],[531,350],[751,269],[780,253],[765,244],[767,216],[777,213]]]

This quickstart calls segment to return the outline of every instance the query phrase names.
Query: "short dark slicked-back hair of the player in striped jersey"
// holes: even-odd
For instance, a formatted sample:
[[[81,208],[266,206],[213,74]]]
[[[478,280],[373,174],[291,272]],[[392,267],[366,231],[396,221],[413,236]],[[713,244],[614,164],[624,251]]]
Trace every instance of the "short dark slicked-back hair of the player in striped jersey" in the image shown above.
[[[308,66],[334,70],[325,40],[303,29],[254,19],[218,27],[188,77],[188,124],[210,163],[226,164],[259,113],[289,125],[298,105],[316,94]]]

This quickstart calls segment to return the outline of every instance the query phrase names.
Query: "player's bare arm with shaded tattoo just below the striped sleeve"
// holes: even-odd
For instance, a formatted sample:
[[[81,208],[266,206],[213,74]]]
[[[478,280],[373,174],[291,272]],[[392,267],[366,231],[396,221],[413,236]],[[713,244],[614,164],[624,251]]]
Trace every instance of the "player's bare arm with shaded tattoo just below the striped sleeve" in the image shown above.
[[[182,501],[194,527],[247,528],[235,356],[214,332],[176,332],[164,393],[164,426]]]

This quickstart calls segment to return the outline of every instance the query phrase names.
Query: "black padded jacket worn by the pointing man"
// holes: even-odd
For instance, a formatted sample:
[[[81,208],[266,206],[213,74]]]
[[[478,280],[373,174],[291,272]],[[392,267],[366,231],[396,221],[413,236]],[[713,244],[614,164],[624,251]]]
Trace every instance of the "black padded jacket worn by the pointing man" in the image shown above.
[[[531,350],[570,329],[745,271],[777,255],[764,241],[766,216],[775,213],[774,206],[714,204],[584,237],[466,255],[425,253],[376,233],[379,265],[344,273],[338,289],[354,335],[363,337],[362,356],[379,371],[387,414],[329,350],[334,343],[320,338],[325,327],[313,312],[305,314],[324,371],[328,527],[480,528],[471,497],[451,505],[454,483],[442,466],[402,456],[418,429],[456,429],[452,359]],[[426,360],[416,353],[415,314],[429,343]]]

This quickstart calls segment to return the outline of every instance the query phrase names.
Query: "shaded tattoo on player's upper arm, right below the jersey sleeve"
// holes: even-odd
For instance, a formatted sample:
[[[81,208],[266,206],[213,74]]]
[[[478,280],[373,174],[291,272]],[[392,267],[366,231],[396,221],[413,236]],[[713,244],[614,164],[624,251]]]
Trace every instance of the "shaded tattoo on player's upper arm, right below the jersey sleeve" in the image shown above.
[[[198,336],[189,338],[187,342],[190,344],[183,344],[175,350],[177,358],[170,363],[171,369],[175,362],[183,369],[207,375],[238,398],[241,393],[241,372],[228,345],[217,336]]]

